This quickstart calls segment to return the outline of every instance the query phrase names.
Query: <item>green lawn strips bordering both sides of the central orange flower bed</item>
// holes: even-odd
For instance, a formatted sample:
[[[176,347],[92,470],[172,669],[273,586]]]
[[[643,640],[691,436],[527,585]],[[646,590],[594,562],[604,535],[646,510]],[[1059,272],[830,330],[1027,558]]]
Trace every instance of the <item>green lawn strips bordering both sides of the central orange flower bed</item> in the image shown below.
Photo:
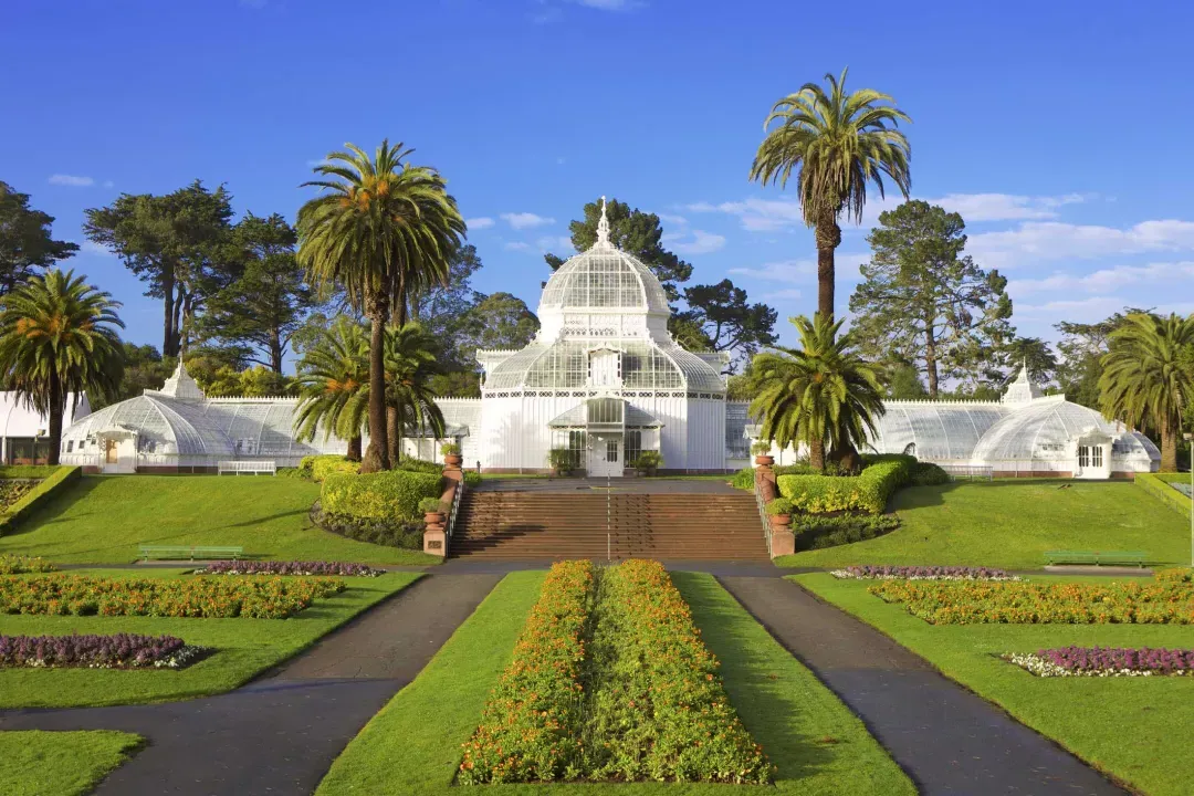
[[[318,794],[451,794],[460,745],[480,720],[491,689],[544,573],[507,575],[436,658],[349,745]],[[716,581],[675,574],[710,649],[722,660],[726,689],[755,740],[778,765],[776,789],[812,795],[915,794],[912,783],[860,722],[789,655]],[[497,794],[731,794],[750,785],[486,785]]]

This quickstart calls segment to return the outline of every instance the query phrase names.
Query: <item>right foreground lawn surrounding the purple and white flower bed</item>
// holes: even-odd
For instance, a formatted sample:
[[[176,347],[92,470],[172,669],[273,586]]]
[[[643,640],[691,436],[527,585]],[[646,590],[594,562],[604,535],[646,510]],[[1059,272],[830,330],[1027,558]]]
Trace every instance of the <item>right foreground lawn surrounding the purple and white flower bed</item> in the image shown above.
[[[1194,678],[1039,678],[997,656],[1046,647],[1194,647],[1181,625],[931,625],[866,581],[792,578],[1071,752],[1152,796],[1190,792]]]

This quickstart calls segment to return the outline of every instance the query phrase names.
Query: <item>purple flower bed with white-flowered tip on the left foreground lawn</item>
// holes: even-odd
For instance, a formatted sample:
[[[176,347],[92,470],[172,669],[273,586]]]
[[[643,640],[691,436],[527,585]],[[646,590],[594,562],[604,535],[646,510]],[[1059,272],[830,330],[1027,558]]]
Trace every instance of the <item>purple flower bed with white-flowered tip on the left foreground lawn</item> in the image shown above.
[[[0,666],[183,668],[209,650],[174,636],[0,636]]]

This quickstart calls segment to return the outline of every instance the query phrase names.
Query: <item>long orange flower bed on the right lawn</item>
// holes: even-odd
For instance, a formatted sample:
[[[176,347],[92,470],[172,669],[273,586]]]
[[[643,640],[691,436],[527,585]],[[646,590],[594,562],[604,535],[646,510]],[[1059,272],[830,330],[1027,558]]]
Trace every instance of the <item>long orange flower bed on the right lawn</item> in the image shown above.
[[[868,587],[933,624],[1192,624],[1194,585],[929,582],[887,580]]]

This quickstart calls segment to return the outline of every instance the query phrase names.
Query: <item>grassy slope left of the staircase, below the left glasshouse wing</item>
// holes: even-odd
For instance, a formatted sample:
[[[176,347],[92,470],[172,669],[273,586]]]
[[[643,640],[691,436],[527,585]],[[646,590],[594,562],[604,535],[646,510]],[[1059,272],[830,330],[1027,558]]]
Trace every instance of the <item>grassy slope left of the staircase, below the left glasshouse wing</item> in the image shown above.
[[[0,553],[63,563],[124,563],[139,544],[241,545],[263,559],[438,563],[314,527],[319,485],[267,476],[85,477],[0,537]]]

